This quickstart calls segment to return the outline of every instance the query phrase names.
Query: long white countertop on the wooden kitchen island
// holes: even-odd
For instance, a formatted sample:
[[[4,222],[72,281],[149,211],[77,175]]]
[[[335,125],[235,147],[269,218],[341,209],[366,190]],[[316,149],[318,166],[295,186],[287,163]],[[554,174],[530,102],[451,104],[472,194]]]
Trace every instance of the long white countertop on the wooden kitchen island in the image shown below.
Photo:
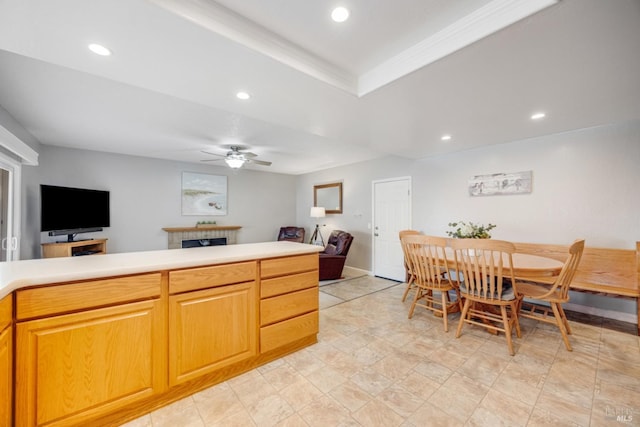
[[[0,298],[27,286],[303,255],[322,250],[316,245],[283,241],[2,262]]]

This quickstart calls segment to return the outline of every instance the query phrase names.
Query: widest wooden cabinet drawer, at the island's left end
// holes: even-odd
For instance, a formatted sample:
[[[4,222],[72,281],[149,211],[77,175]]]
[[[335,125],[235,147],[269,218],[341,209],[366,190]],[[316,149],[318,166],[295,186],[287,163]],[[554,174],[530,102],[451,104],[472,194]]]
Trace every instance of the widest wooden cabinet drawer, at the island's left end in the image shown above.
[[[16,293],[16,319],[157,298],[160,281],[160,273],[151,273],[20,290]]]

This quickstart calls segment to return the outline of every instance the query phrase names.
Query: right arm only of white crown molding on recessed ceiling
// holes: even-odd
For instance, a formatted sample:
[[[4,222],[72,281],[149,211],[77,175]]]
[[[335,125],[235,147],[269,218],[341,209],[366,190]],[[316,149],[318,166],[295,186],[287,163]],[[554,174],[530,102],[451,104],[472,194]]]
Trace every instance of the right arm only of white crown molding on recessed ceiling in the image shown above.
[[[558,1],[494,0],[362,74],[358,79],[358,96],[373,92]]]

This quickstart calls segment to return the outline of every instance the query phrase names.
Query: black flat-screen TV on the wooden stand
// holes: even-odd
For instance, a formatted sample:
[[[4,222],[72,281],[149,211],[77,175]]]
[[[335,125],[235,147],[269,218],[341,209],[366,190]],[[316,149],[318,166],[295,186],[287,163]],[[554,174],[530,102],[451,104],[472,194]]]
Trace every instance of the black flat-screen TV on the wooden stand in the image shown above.
[[[40,229],[50,235],[109,227],[108,191],[40,185],[40,208]]]

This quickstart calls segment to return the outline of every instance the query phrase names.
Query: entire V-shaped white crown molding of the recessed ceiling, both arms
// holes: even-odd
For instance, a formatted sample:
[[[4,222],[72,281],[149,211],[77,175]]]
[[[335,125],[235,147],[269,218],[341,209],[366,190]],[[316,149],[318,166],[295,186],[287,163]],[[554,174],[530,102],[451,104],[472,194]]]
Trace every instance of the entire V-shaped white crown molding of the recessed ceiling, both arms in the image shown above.
[[[362,97],[560,0],[494,0],[360,76],[213,0],[149,1],[293,69]]]

